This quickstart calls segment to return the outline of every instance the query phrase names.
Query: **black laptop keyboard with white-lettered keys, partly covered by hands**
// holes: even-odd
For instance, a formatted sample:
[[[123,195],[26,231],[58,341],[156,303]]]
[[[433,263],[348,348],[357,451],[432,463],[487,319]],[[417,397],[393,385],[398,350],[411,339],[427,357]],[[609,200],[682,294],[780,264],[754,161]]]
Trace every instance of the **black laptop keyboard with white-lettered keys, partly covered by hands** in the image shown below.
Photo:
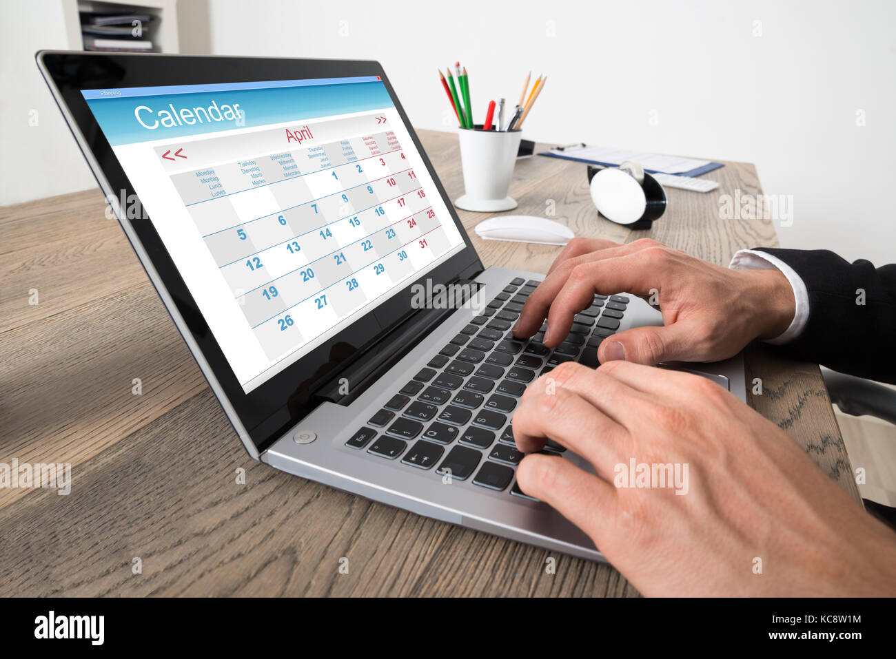
[[[595,295],[593,304],[576,314],[569,336],[551,349],[541,342],[547,323],[529,339],[510,333],[540,283],[513,279],[346,446],[400,460],[409,469],[507,490],[524,455],[516,449],[511,424],[522,392],[557,364],[596,367],[597,347],[619,328],[629,302],[625,295]],[[547,441],[542,452],[557,456],[564,450]],[[510,494],[535,501],[515,482]]]

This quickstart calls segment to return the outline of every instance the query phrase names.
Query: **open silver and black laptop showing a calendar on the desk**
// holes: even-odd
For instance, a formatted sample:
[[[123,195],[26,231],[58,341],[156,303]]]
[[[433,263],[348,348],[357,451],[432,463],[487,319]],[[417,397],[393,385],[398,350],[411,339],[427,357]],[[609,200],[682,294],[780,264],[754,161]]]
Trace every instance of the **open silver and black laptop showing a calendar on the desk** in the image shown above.
[[[513,338],[543,275],[483,266],[380,64],[37,61],[252,458],[602,560],[516,483],[513,410],[556,364],[596,366],[601,340],[661,324],[659,312],[596,295],[562,346]],[[685,368],[745,399],[739,357]],[[593,471],[556,442],[545,450]]]

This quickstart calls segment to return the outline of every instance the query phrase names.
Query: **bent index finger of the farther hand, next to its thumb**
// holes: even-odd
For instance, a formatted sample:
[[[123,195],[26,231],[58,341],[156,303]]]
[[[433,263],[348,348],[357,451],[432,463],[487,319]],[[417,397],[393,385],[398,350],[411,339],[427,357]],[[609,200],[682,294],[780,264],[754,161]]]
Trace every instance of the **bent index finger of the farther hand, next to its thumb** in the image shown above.
[[[658,281],[661,278],[658,256],[659,252],[642,249],[618,257],[576,265],[564,285],[547,302],[549,313],[543,343],[548,347],[554,347],[563,341],[573,326],[573,316],[582,309],[587,309],[595,294],[613,295],[625,292],[645,295],[651,288],[658,288]],[[538,289],[532,295],[536,293]],[[544,305],[545,302],[538,298],[538,304]]]

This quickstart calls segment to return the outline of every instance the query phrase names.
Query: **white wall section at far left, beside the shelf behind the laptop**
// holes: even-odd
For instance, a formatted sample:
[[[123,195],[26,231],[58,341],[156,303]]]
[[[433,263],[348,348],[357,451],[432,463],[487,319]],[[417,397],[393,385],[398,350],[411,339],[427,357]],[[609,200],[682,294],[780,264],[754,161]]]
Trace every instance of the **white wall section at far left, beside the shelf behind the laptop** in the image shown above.
[[[0,206],[96,185],[34,62],[40,49],[70,47],[62,0],[7,2],[3,13]]]

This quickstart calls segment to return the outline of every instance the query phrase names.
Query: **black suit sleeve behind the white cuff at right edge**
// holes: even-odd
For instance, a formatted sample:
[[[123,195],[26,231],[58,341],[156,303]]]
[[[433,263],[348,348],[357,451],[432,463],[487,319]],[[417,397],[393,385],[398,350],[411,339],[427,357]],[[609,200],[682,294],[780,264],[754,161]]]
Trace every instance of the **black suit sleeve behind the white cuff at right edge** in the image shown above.
[[[875,269],[827,250],[757,249],[787,263],[809,294],[806,327],[781,349],[834,371],[896,383],[896,264]]]

